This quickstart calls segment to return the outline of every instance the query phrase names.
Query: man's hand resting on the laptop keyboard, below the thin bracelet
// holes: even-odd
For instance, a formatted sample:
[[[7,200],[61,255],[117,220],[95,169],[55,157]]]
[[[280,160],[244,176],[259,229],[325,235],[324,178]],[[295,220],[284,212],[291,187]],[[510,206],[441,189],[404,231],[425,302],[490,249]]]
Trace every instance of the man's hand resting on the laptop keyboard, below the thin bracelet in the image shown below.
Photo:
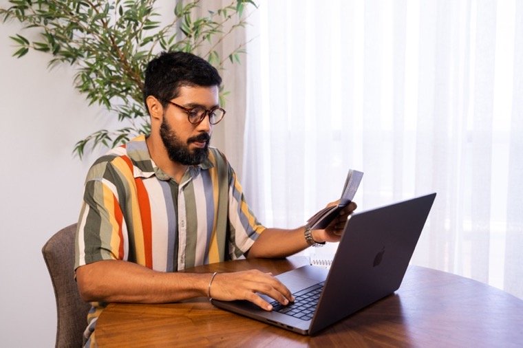
[[[270,311],[273,307],[257,294],[265,294],[282,305],[294,301],[288,288],[270,273],[259,270],[218,273],[214,277],[211,298],[222,301],[247,300],[262,309]]]

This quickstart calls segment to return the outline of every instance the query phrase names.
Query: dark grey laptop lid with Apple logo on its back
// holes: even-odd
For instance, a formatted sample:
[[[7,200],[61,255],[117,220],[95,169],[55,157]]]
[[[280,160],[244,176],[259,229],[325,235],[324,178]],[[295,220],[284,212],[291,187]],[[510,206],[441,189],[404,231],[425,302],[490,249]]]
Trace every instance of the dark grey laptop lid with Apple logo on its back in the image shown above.
[[[348,220],[309,334],[398,290],[436,193]]]

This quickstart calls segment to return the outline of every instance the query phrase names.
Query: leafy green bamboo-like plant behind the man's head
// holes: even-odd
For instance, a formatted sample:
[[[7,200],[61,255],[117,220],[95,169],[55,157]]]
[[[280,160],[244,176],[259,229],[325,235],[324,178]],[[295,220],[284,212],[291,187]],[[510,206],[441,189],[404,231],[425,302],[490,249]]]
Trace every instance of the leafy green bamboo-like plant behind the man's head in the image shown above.
[[[10,0],[0,8],[3,21],[15,19],[39,39],[11,36],[18,58],[31,49],[52,55],[49,66],[66,63],[75,69],[74,87],[89,105],[103,105],[120,129],[100,129],[74,147],[82,157],[85,146],[116,146],[138,133],[149,133],[149,116],[142,102],[143,72],[160,50],[193,52],[223,69],[239,63],[245,43],[220,54],[217,47],[235,29],[246,25],[246,8],[253,0],[232,0],[228,6],[198,15],[202,0],[173,1],[173,19],[160,25],[156,0]],[[211,3],[211,2],[209,2]],[[201,11],[200,11],[201,12]],[[221,102],[226,94],[220,91]]]

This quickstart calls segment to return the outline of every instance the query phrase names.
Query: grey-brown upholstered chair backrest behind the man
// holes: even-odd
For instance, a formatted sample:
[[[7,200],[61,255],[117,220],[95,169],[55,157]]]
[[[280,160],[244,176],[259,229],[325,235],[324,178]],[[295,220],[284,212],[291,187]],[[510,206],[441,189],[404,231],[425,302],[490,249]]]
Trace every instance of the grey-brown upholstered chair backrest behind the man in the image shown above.
[[[76,224],[56,232],[42,248],[56,298],[56,347],[81,347],[91,305],[82,301],[74,280]]]

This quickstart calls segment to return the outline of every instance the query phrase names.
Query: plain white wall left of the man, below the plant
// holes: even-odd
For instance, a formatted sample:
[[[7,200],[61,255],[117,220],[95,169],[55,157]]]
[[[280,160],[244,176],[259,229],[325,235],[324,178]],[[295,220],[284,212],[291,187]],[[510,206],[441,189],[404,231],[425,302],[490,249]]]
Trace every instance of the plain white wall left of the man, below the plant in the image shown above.
[[[0,24],[0,338],[3,347],[53,347],[56,307],[41,248],[78,219],[94,156],[79,160],[74,144],[110,124],[74,90],[70,67],[49,71],[39,52],[11,56],[19,28]]]

